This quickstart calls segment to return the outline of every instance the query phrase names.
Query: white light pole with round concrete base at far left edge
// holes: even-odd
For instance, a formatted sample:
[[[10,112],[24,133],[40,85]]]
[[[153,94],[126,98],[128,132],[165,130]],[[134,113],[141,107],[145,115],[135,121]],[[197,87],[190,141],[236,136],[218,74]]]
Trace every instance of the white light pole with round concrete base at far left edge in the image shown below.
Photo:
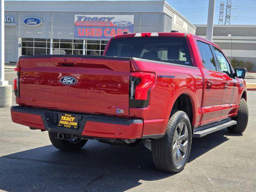
[[[1,0],[1,49],[0,49],[0,107],[12,105],[12,86],[4,80],[4,0]]]

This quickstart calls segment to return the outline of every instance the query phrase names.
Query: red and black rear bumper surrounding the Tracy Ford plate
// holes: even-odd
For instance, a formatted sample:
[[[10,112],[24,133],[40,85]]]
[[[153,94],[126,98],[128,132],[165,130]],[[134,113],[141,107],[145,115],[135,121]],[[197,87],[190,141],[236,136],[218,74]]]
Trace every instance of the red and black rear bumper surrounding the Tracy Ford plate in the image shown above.
[[[60,112],[54,110],[11,107],[13,122],[36,129],[100,138],[142,138],[142,120],[75,114],[79,116],[79,126],[78,129],[74,129],[57,126],[58,113]]]

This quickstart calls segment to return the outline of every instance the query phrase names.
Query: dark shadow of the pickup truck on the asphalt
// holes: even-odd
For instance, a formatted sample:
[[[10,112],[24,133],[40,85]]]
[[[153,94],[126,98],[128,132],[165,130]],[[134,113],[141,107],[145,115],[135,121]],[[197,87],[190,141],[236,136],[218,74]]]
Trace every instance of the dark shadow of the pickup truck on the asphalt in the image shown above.
[[[193,138],[189,162],[226,142],[221,130]],[[188,166],[187,165],[187,166]],[[78,152],[53,146],[26,150],[0,158],[0,189],[16,191],[118,191],[174,174],[158,171],[144,146],[130,148],[88,141]],[[186,167],[185,167],[186,169]]]

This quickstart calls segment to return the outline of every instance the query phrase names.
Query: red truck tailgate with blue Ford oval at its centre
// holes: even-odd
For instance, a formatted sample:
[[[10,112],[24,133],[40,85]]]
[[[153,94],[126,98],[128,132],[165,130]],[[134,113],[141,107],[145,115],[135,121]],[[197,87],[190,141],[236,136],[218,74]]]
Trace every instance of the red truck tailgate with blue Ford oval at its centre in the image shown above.
[[[130,58],[32,56],[20,60],[20,104],[94,114],[129,115]],[[63,77],[76,79],[64,84]],[[123,113],[117,112],[123,110]]]

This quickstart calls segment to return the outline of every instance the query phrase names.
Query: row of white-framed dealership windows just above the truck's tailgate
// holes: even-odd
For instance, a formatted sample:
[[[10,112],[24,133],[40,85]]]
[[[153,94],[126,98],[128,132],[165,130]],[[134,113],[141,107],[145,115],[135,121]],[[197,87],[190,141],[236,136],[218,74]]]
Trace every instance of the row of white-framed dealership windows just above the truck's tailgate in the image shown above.
[[[86,55],[102,55],[108,41],[86,40]],[[22,55],[50,54],[50,39],[22,38]],[[52,39],[52,54],[82,55],[83,40],[76,39]]]

